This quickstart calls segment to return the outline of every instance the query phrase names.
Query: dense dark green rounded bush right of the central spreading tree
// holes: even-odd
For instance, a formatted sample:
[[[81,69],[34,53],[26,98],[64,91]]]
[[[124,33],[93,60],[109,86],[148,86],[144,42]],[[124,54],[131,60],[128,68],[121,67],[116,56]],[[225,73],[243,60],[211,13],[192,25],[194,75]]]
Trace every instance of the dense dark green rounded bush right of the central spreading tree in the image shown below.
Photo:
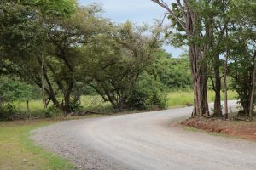
[[[165,86],[159,79],[144,73],[137,82],[135,88],[131,89],[128,105],[132,109],[165,109],[166,93]]]

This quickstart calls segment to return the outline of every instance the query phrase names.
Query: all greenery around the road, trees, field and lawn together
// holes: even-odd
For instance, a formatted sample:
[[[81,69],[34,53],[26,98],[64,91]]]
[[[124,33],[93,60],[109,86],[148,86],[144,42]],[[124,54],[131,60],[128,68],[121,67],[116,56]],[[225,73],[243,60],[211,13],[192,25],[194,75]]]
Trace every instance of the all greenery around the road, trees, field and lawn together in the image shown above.
[[[170,25],[113,23],[76,0],[2,0],[0,121],[183,106],[193,117],[235,120],[228,99],[253,121],[255,1],[152,2]],[[166,44],[189,50],[174,58]],[[0,168],[72,168],[28,139],[43,125],[0,122]]]

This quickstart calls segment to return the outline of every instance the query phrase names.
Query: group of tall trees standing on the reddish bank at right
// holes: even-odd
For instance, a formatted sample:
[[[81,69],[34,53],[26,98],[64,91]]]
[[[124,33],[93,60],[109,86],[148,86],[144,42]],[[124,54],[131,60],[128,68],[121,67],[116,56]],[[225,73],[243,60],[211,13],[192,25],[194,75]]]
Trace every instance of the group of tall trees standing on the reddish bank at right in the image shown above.
[[[171,26],[166,40],[189,47],[195,91],[193,116],[209,116],[207,82],[215,91],[214,116],[223,116],[220,92],[225,91],[224,114],[228,114],[227,81],[238,93],[245,116],[253,116],[256,79],[256,3],[254,0],[152,0],[166,9]]]

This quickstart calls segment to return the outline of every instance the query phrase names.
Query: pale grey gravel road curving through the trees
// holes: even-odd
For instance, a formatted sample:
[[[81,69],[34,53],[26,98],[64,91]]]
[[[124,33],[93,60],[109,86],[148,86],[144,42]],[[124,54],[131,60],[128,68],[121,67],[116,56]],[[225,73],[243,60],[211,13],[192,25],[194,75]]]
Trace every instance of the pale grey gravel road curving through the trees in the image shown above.
[[[172,126],[191,111],[189,107],[59,122],[33,131],[32,139],[73,161],[77,169],[256,169],[255,143]]]

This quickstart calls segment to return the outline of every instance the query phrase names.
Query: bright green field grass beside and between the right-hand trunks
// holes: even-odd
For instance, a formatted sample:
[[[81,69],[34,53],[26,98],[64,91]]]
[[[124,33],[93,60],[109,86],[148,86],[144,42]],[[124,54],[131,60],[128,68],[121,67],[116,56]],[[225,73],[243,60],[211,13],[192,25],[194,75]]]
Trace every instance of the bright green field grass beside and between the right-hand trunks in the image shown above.
[[[171,92],[167,95],[167,105],[169,108],[173,107],[183,107],[186,104],[193,104],[193,91],[188,91],[188,92]],[[208,102],[213,102],[214,101],[215,94],[213,91],[208,91],[207,93],[207,98]],[[224,100],[224,93],[221,94],[222,100]],[[228,99],[236,99],[236,92],[234,91],[229,91],[228,92]]]

